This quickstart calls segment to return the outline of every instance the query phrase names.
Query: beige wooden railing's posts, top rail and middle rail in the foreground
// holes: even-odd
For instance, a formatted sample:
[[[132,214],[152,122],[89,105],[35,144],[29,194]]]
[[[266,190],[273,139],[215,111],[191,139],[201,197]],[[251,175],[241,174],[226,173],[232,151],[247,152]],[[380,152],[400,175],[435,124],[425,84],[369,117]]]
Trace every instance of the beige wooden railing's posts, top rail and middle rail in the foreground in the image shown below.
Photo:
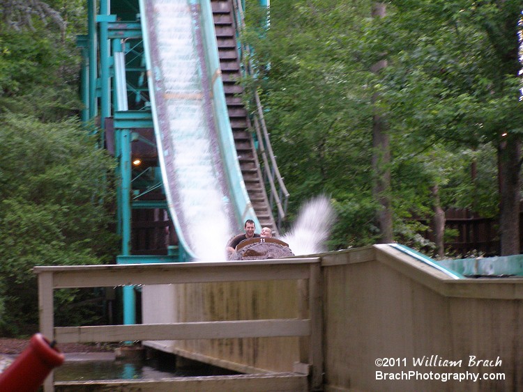
[[[322,384],[321,270],[319,258],[289,260],[185,262],[169,264],[35,267],[38,274],[40,332],[56,343],[119,342],[300,336],[301,363],[310,371],[311,389]],[[229,281],[298,280],[300,317],[296,319],[181,322],[88,327],[54,327],[53,291],[60,288],[114,287]],[[278,353],[275,353],[278,355]],[[307,362],[308,363],[305,363]],[[53,391],[52,376],[45,391]]]

